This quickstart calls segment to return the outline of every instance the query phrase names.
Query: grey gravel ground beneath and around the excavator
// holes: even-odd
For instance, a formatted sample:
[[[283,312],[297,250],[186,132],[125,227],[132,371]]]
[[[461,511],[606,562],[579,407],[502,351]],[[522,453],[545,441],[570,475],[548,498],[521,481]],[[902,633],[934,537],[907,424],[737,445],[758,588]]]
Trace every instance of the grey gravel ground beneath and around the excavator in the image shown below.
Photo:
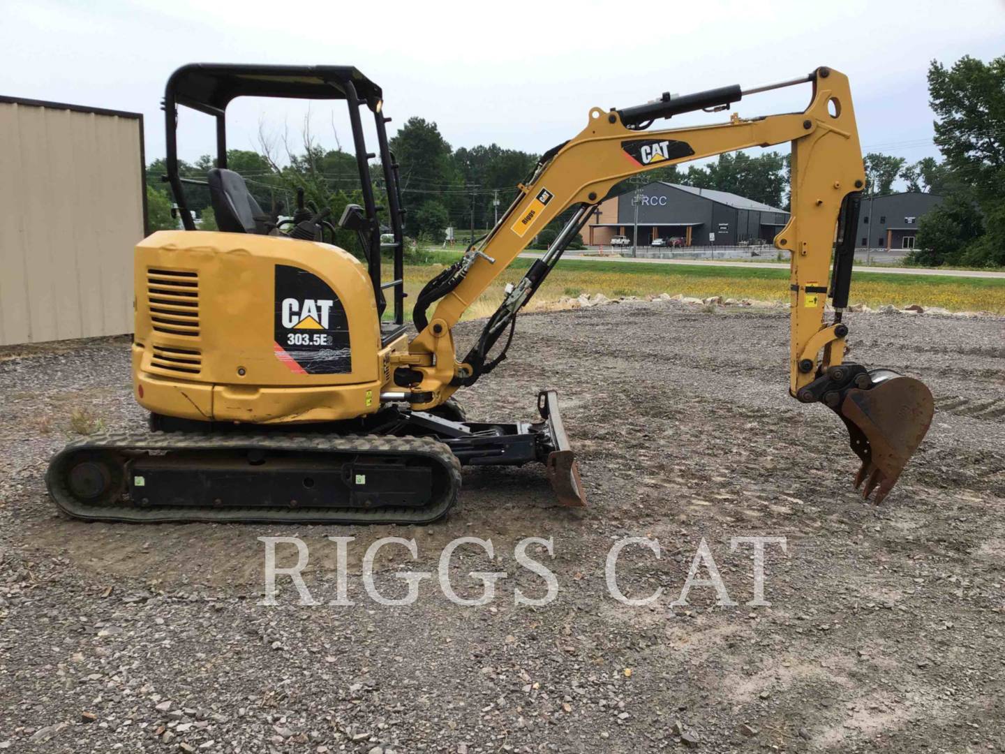
[[[0,354],[0,750],[83,752],[965,752],[1005,746],[1005,320],[853,315],[852,358],[923,378],[939,410],[883,506],[850,489],[840,422],[786,392],[778,311],[621,304],[521,319],[511,358],[462,402],[473,417],[533,417],[554,387],[590,501],[557,508],[541,467],[470,469],[456,511],[425,528],[128,526],[55,516],[42,481],[77,423],[137,428],[125,339]],[[478,323],[459,328],[470,341]],[[84,409],[83,414],[79,409]],[[82,417],[82,418],[81,418]],[[260,606],[260,536],[311,547],[323,604]],[[349,545],[336,597],[335,545]],[[752,596],[749,547],[767,550]],[[366,596],[363,553],[390,547],[377,586],[435,571],[506,571],[497,598],[448,601],[425,579],[415,604]],[[619,587],[611,545],[628,547]],[[515,561],[553,537],[558,597]],[[736,606],[695,586],[673,606],[701,539]],[[292,548],[280,550],[280,560]],[[702,569],[702,575],[706,573]]]

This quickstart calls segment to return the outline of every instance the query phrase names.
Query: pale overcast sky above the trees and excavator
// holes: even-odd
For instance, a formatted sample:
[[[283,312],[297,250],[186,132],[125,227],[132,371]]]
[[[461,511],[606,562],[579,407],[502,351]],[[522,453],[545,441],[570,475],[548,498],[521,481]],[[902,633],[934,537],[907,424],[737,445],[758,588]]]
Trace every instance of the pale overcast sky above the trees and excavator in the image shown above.
[[[594,106],[748,87],[830,65],[851,79],[863,150],[914,161],[938,155],[929,61],[1005,53],[1002,0],[30,0],[5,3],[3,26],[0,95],[143,113],[148,161],[164,154],[165,81],[193,61],[355,65],[383,87],[392,133],[421,116],[454,148],[495,142],[532,152],[577,134]],[[786,89],[734,109],[791,112],[808,97],[808,87]],[[238,101],[229,146],[254,148],[259,122],[295,136],[305,113],[298,102]],[[316,103],[311,113],[322,143],[335,145],[334,122],[351,146],[342,108]],[[209,120],[184,121],[181,157],[210,151]]]

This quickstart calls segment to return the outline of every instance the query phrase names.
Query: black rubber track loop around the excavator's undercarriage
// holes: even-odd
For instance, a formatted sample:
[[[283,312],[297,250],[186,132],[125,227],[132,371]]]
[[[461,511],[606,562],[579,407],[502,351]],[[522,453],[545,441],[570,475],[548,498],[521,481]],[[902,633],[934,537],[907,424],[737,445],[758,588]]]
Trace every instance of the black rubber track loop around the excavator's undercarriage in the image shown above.
[[[141,508],[124,500],[123,505],[91,505],[77,502],[64,484],[62,469],[81,450],[113,450],[124,453],[165,450],[305,450],[314,452],[358,453],[400,458],[425,456],[439,464],[449,483],[440,500],[424,508],[192,508],[171,506]],[[125,472],[123,470],[125,477]],[[49,496],[60,511],[85,521],[132,523],[215,522],[215,523],[318,523],[318,524],[428,524],[441,518],[453,506],[460,491],[460,462],[442,442],[428,437],[378,435],[276,435],[276,434],[185,434],[179,432],[103,432],[67,444],[52,456],[45,474]]]

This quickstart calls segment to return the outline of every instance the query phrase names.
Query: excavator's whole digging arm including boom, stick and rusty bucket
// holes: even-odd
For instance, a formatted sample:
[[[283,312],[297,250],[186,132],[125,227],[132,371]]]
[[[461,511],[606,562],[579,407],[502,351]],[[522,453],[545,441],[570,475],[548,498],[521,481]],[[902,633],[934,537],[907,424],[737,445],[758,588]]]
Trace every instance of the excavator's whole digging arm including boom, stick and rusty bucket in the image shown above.
[[[665,131],[646,131],[655,118],[698,109],[724,110],[744,93],[810,81],[813,96],[802,113],[743,119]],[[775,246],[791,252],[789,392],[804,403],[821,401],[844,421],[852,450],[862,466],[856,486],[863,495],[878,488],[876,502],[889,492],[932,420],[932,394],[918,380],[889,370],[867,371],[842,364],[854,255],[858,199],[864,185],[861,150],[848,79],[826,67],[804,78],[747,92],[739,86],[670,98],[608,113],[594,108],[586,128],[546,154],[527,185],[478,248],[434,278],[420,294],[415,323],[419,334],[408,354],[392,357],[404,368],[395,381],[411,390],[413,407],[445,401],[494,363],[485,363],[492,344],[557,263],[571,236],[610,190],[628,176],[749,147],[791,142],[791,217]],[[506,269],[531,239],[570,207],[572,219],[548,250],[488,320],[478,344],[463,360],[455,356],[453,326]],[[840,222],[839,222],[840,220]],[[835,232],[835,229],[837,232]],[[831,254],[834,266],[831,270]],[[835,316],[824,323],[830,297]],[[425,309],[438,301],[426,321]],[[512,331],[511,331],[512,334]],[[505,353],[505,350],[504,350]],[[496,362],[497,363],[497,360]]]

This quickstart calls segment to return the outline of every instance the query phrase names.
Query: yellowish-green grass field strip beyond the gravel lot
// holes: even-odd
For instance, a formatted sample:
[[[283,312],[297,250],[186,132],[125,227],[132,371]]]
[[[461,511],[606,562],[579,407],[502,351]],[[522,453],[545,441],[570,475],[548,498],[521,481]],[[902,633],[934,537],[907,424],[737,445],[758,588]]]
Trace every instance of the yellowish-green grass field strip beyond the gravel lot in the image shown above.
[[[419,290],[446,263],[457,258],[450,252],[432,252],[431,264],[405,267],[405,300],[411,302]],[[516,282],[533,259],[516,259],[496,282],[471,307],[466,318],[484,317],[502,300],[502,287]],[[390,276],[390,269],[385,274]],[[547,309],[560,299],[580,294],[650,296],[662,293],[705,298],[722,296],[762,301],[789,300],[789,274],[785,269],[747,267],[712,267],[708,265],[646,264],[616,261],[562,261],[548,276],[528,309]],[[1005,314],[1005,279],[952,277],[942,275],[884,274],[855,271],[851,281],[851,304],[879,307],[892,304],[904,307],[942,307],[953,312],[993,312]]]

